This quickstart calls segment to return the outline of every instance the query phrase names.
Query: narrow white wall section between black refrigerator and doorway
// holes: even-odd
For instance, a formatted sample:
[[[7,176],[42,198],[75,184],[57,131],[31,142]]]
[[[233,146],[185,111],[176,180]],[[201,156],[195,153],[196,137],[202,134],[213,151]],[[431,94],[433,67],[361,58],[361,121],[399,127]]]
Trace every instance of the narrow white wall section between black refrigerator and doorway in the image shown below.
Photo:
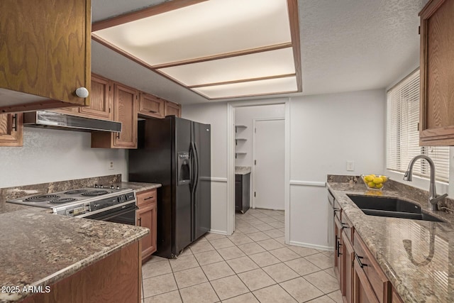
[[[182,107],[182,117],[211,124],[211,231],[227,231],[227,104]]]

